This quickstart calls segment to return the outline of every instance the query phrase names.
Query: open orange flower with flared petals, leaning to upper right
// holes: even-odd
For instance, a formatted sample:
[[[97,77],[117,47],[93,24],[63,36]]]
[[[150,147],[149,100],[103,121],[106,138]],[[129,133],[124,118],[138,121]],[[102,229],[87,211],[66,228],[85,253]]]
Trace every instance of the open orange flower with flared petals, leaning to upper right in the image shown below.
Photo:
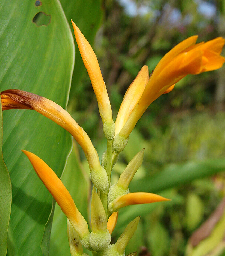
[[[170,50],[158,63],[152,76],[125,125],[120,136],[128,138],[147,107],[174,84],[188,74],[199,74],[222,67],[225,58],[220,56],[225,40],[217,37],[206,43],[195,44],[198,36],[191,36]]]

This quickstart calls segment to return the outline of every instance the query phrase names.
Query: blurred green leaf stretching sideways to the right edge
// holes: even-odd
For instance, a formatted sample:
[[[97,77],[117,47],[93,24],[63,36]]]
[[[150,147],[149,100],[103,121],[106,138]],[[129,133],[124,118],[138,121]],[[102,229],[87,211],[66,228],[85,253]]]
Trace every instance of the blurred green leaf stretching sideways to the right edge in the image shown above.
[[[167,188],[183,185],[195,179],[211,176],[225,170],[225,159],[207,159],[184,164],[167,165],[153,177],[145,177],[130,183],[130,191],[156,193]]]

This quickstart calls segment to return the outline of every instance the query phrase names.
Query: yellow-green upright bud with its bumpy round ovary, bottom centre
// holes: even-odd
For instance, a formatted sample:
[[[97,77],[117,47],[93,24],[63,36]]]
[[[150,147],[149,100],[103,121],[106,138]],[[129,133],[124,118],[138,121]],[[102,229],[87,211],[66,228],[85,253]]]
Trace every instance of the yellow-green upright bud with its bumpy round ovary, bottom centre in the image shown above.
[[[107,218],[101,199],[93,191],[91,200],[91,226],[89,237],[90,246],[95,251],[105,250],[111,241],[111,235],[107,230]]]

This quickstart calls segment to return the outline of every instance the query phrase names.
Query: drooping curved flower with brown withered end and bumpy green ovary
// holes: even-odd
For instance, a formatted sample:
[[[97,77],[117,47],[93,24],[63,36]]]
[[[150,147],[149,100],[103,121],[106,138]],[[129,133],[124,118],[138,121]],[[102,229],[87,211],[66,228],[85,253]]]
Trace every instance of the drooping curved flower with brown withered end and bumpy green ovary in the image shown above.
[[[15,89],[1,92],[1,100],[2,110],[33,109],[69,131],[80,144],[87,157],[92,182],[100,191],[108,189],[108,176],[105,169],[100,165],[95,147],[87,133],[65,109],[45,97]]]

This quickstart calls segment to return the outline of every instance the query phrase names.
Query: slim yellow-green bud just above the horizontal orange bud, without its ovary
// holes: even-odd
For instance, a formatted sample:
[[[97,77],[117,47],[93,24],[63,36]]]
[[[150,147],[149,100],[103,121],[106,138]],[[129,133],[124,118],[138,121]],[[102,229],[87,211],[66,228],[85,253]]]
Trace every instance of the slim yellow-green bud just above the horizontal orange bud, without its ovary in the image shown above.
[[[142,164],[144,157],[144,149],[138,152],[133,159],[128,163],[125,170],[121,173],[118,183],[118,186],[123,187],[124,189],[127,189],[130,181],[133,179],[134,174],[139,169],[139,167]]]

